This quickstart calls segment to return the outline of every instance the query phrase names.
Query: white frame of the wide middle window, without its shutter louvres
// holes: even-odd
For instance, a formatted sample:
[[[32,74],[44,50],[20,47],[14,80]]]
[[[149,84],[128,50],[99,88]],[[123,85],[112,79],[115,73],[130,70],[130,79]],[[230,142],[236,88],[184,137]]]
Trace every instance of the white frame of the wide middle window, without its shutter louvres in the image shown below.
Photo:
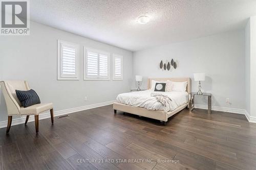
[[[88,77],[87,75],[87,58],[88,58],[88,51],[92,52],[92,53],[97,53],[98,55],[98,76],[97,77]],[[99,77],[99,55],[106,55],[108,57],[108,77],[103,78],[103,77]],[[97,50],[95,48],[91,48],[91,47],[83,47],[83,80],[110,80],[110,53],[109,52],[105,52],[102,50]]]

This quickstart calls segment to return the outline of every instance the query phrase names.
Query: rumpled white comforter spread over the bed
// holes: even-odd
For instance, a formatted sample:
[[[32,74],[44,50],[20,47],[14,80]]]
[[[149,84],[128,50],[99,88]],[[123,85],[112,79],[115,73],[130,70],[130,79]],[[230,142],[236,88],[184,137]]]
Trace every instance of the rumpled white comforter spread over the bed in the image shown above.
[[[154,96],[151,96],[151,93],[167,95],[172,99],[172,102],[169,102],[169,105],[164,107]],[[156,92],[152,90],[144,90],[118,94],[116,100],[125,105],[143,107],[147,110],[173,111],[188,102],[188,93],[186,91]]]

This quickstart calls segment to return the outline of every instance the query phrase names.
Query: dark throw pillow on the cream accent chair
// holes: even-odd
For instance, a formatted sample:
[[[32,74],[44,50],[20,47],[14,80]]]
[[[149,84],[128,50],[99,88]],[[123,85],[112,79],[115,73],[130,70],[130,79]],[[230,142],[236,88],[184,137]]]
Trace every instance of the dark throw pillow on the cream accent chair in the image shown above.
[[[29,106],[41,103],[39,96],[32,89],[27,91],[20,91],[20,90],[15,90],[15,91],[16,91],[17,98],[20,101],[20,103],[22,103],[23,107],[29,107]]]

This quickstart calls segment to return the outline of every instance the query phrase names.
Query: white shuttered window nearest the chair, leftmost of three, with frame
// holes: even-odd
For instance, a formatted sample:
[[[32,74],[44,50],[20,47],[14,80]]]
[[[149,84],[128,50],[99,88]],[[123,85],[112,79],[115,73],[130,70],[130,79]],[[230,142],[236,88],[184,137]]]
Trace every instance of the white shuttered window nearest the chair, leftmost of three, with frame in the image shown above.
[[[79,80],[79,45],[58,40],[58,80]]]

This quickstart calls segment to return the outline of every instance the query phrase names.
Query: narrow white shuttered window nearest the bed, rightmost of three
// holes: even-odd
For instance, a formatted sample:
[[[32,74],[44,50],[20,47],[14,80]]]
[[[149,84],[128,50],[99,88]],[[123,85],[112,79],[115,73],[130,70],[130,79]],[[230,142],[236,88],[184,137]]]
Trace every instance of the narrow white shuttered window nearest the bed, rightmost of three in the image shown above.
[[[123,56],[113,54],[113,80],[123,80]]]

